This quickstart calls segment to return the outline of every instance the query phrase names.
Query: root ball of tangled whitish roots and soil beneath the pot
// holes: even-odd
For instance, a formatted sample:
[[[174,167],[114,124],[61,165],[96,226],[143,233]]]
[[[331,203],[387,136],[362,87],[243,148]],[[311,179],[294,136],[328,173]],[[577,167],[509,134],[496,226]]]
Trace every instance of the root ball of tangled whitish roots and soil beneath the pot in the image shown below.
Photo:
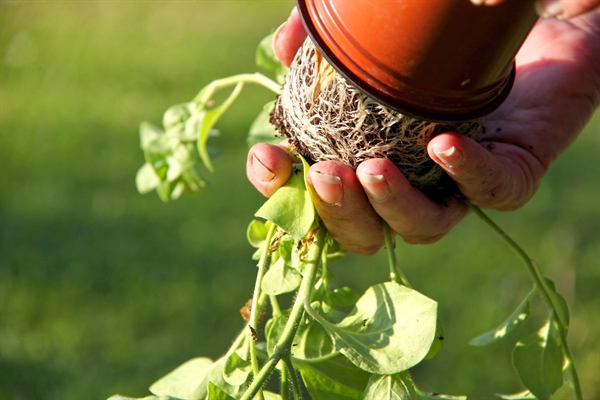
[[[386,158],[436,200],[454,185],[427,155],[427,143],[450,130],[476,138],[482,123],[423,121],[383,106],[337,74],[310,39],[292,63],[271,122],[309,161],[337,160],[356,168],[366,159]]]

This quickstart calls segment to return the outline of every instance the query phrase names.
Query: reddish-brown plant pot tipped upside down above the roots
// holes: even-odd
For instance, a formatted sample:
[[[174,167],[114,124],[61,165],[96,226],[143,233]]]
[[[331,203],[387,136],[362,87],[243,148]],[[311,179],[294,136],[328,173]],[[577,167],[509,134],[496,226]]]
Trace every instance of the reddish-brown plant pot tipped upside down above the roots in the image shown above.
[[[365,93],[436,121],[489,114],[508,95],[535,0],[297,0],[323,56]]]

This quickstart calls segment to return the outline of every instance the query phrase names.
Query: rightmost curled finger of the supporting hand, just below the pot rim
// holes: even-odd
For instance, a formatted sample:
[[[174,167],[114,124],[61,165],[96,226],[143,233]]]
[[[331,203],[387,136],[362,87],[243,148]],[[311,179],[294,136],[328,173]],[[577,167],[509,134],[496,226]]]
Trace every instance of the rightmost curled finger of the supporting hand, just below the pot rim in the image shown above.
[[[456,181],[473,204],[515,210],[535,193],[544,168],[530,153],[506,143],[477,143],[458,133],[431,140],[429,156]]]

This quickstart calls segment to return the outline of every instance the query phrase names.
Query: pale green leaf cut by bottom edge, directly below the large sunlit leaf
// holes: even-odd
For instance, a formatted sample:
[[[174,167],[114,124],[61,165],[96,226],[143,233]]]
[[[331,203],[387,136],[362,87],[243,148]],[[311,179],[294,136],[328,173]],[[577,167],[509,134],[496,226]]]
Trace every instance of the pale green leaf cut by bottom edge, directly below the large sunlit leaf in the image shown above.
[[[373,375],[365,390],[365,400],[413,400],[415,385],[407,372],[394,375]]]

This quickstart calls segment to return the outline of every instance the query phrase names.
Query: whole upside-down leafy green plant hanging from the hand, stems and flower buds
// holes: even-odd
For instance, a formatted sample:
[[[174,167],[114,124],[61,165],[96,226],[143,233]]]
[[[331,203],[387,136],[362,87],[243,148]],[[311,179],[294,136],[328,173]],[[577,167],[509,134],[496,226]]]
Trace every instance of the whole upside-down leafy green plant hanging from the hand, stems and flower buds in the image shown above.
[[[255,83],[278,93],[285,68],[275,59],[271,37],[257,52],[259,66],[275,72],[243,74],[213,81],[196,98],[169,108],[163,128],[143,123],[141,144],[146,164],[137,175],[141,193],[156,190],[163,201],[205,185],[199,165],[212,171],[208,138],[219,118],[242,88]],[[223,93],[224,99],[217,101]],[[269,124],[273,103],[251,126],[249,141],[273,140]],[[303,390],[315,399],[464,398],[425,393],[412,381],[410,368],[435,357],[444,333],[437,303],[412,288],[400,269],[394,238],[383,223],[389,281],[359,294],[336,287],[329,264],[344,250],[328,234],[312,206],[306,185],[307,162],[300,160],[288,183],[256,212],[247,230],[258,263],[254,296],[242,309],[247,325],[216,361],[194,358],[159,379],[147,399],[294,399]],[[582,397],[577,371],[567,344],[569,313],[554,283],[536,262],[480,209],[464,200],[524,261],[533,288],[498,327],[471,341],[485,346],[505,339],[531,314],[540,295],[546,318],[537,332],[518,340],[513,365],[527,388],[504,399],[547,399],[568,379],[576,398]],[[286,294],[295,293],[292,300]],[[266,309],[270,316],[263,324]],[[302,384],[298,379],[298,373]],[[278,394],[265,388],[278,374]],[[303,389],[304,388],[304,389]],[[126,399],[113,396],[111,400]]]

